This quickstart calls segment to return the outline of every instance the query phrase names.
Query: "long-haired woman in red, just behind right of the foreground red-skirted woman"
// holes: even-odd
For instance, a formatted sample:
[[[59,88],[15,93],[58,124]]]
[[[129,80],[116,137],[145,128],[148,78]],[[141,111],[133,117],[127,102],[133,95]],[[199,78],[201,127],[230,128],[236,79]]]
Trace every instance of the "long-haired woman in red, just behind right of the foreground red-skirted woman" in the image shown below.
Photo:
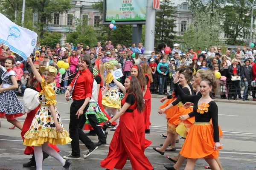
[[[143,112],[144,121],[145,121],[145,133],[150,133],[149,126],[150,123],[150,113],[151,113],[151,93],[150,93],[150,83],[153,82],[153,78],[151,75],[151,68],[149,67],[147,62],[143,62],[141,65],[142,71],[146,78],[146,91],[143,99],[145,100],[145,111]]]

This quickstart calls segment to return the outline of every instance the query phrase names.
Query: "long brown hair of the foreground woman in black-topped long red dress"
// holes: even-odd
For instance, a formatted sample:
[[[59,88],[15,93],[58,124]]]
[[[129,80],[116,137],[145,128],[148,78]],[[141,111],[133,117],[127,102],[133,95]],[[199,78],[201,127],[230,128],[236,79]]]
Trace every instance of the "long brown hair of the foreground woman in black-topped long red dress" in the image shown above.
[[[145,109],[143,93],[140,88],[140,82],[135,76],[131,76],[131,88],[128,90],[128,94],[135,94],[137,99],[137,110],[142,113]]]

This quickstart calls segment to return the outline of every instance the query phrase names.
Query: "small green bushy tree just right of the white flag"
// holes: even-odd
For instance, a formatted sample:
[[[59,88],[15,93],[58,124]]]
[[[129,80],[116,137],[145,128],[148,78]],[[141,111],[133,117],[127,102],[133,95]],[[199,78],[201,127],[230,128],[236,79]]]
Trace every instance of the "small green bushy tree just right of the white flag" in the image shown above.
[[[49,46],[53,49],[57,43],[61,43],[61,37],[61,33],[45,31],[44,37],[40,40],[40,42],[41,45]]]

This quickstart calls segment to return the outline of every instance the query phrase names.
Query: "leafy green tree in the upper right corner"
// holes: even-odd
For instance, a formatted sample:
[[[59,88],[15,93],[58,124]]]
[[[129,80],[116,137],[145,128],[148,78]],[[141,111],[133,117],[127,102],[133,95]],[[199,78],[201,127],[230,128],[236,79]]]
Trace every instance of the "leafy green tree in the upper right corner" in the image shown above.
[[[245,0],[227,0],[227,5],[223,8],[223,29],[225,37],[227,37],[227,44],[244,45],[241,38],[250,37],[251,10],[251,5]]]

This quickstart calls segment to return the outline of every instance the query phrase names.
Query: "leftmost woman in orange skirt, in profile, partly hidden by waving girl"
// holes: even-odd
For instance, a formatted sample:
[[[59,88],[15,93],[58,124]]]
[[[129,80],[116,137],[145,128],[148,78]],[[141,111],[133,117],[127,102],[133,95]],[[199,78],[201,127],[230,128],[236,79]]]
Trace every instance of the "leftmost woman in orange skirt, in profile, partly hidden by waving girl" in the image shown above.
[[[177,74],[177,73],[176,73]],[[178,75],[178,74],[177,74]],[[179,78],[179,82],[180,85],[182,85],[182,90],[184,91],[185,94],[192,94],[193,89],[189,87],[188,83],[191,81],[192,79],[192,72],[188,71],[188,72],[183,72],[180,74],[180,78]],[[161,148],[156,148],[153,147],[153,149],[155,151],[157,151],[158,153],[160,153],[161,155],[164,155],[165,151],[175,151],[175,142],[176,142],[176,138],[175,138],[175,133],[176,133],[176,127],[179,125],[179,116],[184,115],[184,114],[188,114],[190,112],[192,112],[191,108],[185,109],[183,108],[183,104],[185,104],[187,101],[186,100],[182,100],[179,96],[178,98],[172,102],[170,105],[168,105],[166,108],[163,108],[159,111],[159,113],[163,113],[165,112],[167,109],[172,108],[173,106],[177,105],[177,111],[175,113],[174,116],[172,116],[169,120],[168,120],[168,135],[166,138],[166,141],[163,143],[163,146]],[[168,145],[172,142],[172,146],[170,147],[169,150],[166,150]]]

